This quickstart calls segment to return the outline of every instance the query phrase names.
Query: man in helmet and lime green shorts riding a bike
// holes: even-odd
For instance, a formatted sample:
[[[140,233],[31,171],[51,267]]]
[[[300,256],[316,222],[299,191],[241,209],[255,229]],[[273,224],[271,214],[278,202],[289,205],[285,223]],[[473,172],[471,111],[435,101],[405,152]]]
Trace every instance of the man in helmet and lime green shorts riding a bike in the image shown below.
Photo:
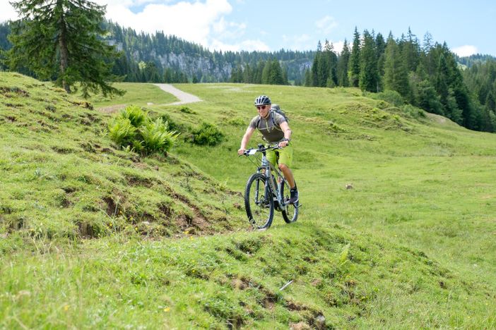
[[[273,166],[278,164],[279,169],[283,172],[291,188],[289,202],[290,204],[295,204],[298,202],[298,190],[293,172],[290,170],[291,161],[293,161],[293,146],[290,145],[291,130],[286,118],[276,111],[272,111],[271,105],[271,99],[266,95],[261,95],[255,99],[255,106],[259,114],[249,123],[237,154],[243,154],[247,148],[249,139],[252,138],[252,134],[256,129],[260,131],[266,142],[278,143],[279,147],[283,149],[267,150],[267,159]]]

